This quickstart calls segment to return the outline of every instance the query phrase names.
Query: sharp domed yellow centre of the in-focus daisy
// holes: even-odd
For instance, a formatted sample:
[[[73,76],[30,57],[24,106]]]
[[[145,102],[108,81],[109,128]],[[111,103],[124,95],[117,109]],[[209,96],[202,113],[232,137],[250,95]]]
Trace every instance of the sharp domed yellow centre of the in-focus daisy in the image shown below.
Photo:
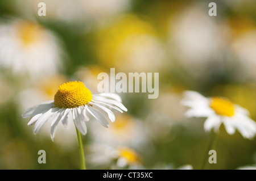
[[[59,108],[75,108],[92,101],[92,92],[82,82],[67,82],[59,86],[54,104]]]

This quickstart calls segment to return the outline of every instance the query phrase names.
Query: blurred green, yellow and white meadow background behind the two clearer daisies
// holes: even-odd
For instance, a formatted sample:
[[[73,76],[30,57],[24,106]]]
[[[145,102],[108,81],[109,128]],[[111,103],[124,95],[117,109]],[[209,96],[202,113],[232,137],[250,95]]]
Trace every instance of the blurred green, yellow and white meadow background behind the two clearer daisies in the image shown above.
[[[46,16],[38,16],[38,3]],[[217,16],[209,16],[209,3]],[[200,169],[209,134],[205,118],[184,116],[183,91],[224,96],[256,120],[256,1],[1,0],[0,169],[79,169],[74,129],[49,125],[36,135],[21,114],[57,87],[82,81],[97,94],[98,73],[159,73],[159,97],[119,93],[128,112],[110,128],[88,122],[88,169]],[[117,113],[117,112],[115,112]],[[217,163],[256,164],[256,138],[217,136]],[[46,151],[46,164],[38,151]],[[126,158],[128,166],[123,166]]]

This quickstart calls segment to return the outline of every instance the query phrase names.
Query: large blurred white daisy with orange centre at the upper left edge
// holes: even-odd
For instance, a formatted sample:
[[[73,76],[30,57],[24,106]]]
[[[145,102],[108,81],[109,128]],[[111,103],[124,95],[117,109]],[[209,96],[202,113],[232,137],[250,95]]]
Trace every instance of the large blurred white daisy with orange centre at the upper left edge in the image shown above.
[[[55,34],[32,20],[0,22],[0,66],[15,75],[37,78],[61,68]],[[20,78],[20,77],[19,77]]]

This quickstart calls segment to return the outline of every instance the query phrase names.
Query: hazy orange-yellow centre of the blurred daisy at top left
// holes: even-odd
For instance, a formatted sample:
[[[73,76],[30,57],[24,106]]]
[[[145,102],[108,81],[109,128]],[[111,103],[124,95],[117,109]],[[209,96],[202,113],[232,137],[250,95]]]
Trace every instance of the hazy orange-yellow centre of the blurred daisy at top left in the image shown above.
[[[43,28],[34,22],[22,21],[17,24],[18,35],[26,47],[42,38]]]

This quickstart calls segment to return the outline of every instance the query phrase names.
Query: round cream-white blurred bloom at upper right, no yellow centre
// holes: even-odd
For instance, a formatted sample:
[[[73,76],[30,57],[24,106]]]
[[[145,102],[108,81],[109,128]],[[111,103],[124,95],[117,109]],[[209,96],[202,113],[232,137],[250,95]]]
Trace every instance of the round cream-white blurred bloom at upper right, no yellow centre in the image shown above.
[[[173,16],[169,33],[171,56],[195,76],[205,74],[225,44],[216,22],[197,4]]]

